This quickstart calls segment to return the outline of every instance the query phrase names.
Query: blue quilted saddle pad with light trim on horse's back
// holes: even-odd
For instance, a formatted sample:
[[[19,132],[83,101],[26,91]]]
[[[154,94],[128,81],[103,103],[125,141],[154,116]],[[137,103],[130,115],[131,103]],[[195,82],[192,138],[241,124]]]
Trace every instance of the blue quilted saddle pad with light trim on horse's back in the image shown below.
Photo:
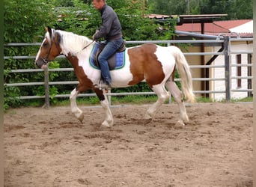
[[[100,70],[100,67],[98,67],[96,63],[96,53],[97,53],[97,50],[99,49],[99,46],[100,46],[99,43],[94,44],[94,48],[91,50],[91,55],[89,58],[89,63],[91,64],[91,66],[98,70]],[[124,67],[125,51],[116,52],[114,55],[112,55],[112,57],[109,58],[108,63],[109,63],[110,70],[118,70]]]

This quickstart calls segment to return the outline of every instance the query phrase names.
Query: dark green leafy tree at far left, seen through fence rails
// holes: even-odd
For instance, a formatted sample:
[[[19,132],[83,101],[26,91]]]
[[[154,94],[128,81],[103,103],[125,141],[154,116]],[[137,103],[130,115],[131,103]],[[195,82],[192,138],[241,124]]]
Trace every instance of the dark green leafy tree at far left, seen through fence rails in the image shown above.
[[[42,0],[8,0],[4,1],[4,43],[31,43],[35,36],[44,33],[45,25],[52,25],[54,15],[52,5]],[[40,38],[41,39],[41,38]],[[38,39],[37,39],[38,40]],[[34,47],[4,47],[4,56],[35,54]],[[42,79],[31,73],[10,73],[10,70],[34,68],[33,60],[4,60],[4,83],[28,82]],[[29,94],[31,88],[4,87],[4,107],[18,105],[19,99],[14,99],[20,93]],[[24,95],[23,94],[23,95]]]

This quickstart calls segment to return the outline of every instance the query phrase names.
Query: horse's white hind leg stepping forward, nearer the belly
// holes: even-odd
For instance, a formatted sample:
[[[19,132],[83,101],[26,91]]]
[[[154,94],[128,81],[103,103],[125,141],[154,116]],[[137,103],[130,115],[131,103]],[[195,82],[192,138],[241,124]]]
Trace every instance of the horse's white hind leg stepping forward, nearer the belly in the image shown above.
[[[154,86],[152,90],[156,93],[156,95],[158,96],[158,99],[156,100],[155,103],[153,103],[153,105],[150,108],[147,109],[147,113],[144,116],[144,119],[146,120],[151,120],[153,117],[153,114],[156,113],[157,109],[170,96],[170,93],[168,93],[168,91],[166,91],[164,86],[162,85]]]

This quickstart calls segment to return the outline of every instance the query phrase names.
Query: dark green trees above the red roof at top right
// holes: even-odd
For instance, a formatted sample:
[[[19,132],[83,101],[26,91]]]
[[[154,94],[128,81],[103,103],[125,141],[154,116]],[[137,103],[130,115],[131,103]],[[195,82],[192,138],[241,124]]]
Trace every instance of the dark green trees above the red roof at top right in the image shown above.
[[[223,19],[252,19],[253,0],[147,1],[150,13],[166,15],[227,13]]]

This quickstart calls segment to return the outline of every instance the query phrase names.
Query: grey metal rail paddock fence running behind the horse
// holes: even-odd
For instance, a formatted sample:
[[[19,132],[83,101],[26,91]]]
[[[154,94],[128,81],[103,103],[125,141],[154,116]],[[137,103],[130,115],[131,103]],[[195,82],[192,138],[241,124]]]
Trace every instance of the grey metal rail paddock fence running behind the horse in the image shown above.
[[[231,38],[230,36],[221,36],[221,37],[215,37],[215,40],[211,38],[211,40],[147,40],[147,41],[127,41],[127,44],[143,44],[143,43],[156,43],[156,44],[162,44],[166,46],[171,45],[179,45],[182,43],[188,44],[188,45],[200,45],[201,43],[204,43],[204,45],[217,45],[222,46],[222,51],[218,52],[183,52],[185,56],[193,56],[193,55],[210,55],[211,59],[210,61],[214,61],[219,55],[224,56],[224,63],[222,64],[206,64],[206,65],[189,65],[189,67],[193,69],[203,69],[207,72],[210,69],[216,70],[216,69],[222,69],[225,71],[225,76],[222,77],[193,77],[192,82],[222,82],[222,84],[225,85],[225,88],[221,90],[195,90],[195,94],[215,94],[215,93],[222,93],[225,94],[225,100],[230,101],[231,100],[231,93],[234,92],[245,92],[248,93],[248,96],[252,96],[252,51],[249,50],[234,50],[231,51],[231,43],[233,41],[238,42],[251,42],[253,41],[253,38]],[[41,43],[7,43],[4,45],[4,47],[9,46],[40,46]],[[231,55],[239,55],[239,54],[246,54],[248,55],[248,63],[247,64],[232,64],[231,63]],[[36,56],[31,55],[22,55],[22,56],[4,56],[4,60],[8,58],[13,59],[35,59]],[[58,56],[58,58],[65,58],[64,55]],[[189,61],[188,61],[189,62]],[[237,67],[246,67],[247,68],[247,76],[241,76],[234,75],[231,73],[232,68]],[[7,83],[4,84],[7,87],[19,87],[19,86],[38,86],[38,85],[44,85],[45,88],[45,94],[43,96],[19,96],[19,99],[45,99],[45,107],[49,108],[50,106],[50,94],[49,94],[49,87],[51,85],[77,85],[78,81],[65,81],[63,78],[63,81],[61,82],[49,82],[49,72],[64,72],[64,71],[73,71],[73,68],[56,68],[56,69],[25,69],[25,70],[10,70],[10,73],[42,73],[44,72],[44,82],[17,82],[17,83]],[[180,81],[180,79],[174,79],[175,81]],[[231,88],[231,82],[232,81],[241,81],[241,80],[247,80],[247,88]],[[129,92],[129,93],[113,93],[111,90],[106,93],[109,99],[109,104],[111,105],[111,96],[128,96],[128,95],[153,95],[154,92]],[[64,98],[69,97],[70,94],[57,94],[53,97],[55,98]],[[96,96],[95,93],[80,93],[79,96]],[[171,97],[169,98],[169,102],[171,102]]]

